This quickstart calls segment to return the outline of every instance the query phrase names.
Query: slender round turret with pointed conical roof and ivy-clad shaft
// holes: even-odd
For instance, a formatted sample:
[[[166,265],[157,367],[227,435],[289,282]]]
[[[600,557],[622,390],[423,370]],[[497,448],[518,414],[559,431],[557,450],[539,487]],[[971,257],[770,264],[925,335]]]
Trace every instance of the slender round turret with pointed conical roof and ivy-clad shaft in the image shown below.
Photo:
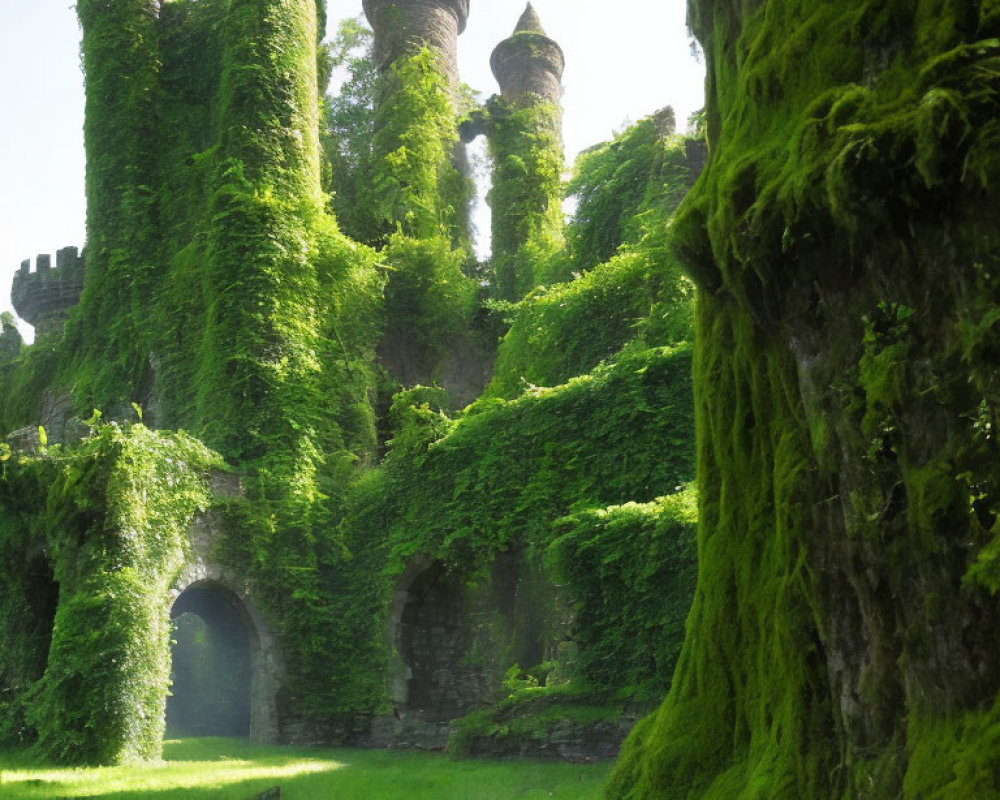
[[[562,244],[562,48],[528,3],[490,58],[500,97],[486,125],[493,157],[493,261],[501,297],[517,300],[566,276],[550,272]]]

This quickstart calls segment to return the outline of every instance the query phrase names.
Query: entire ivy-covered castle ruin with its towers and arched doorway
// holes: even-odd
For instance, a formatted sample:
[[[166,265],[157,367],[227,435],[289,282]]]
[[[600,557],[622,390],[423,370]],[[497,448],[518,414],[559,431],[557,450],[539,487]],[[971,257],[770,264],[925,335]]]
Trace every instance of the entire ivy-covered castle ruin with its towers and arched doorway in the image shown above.
[[[22,267],[15,305],[38,341],[0,351],[12,432],[0,451],[2,741],[92,763],[157,757],[165,725],[439,747],[455,718],[512,691],[505,680],[569,685],[579,659],[581,675],[600,676],[593,696],[621,682],[648,702],[669,674],[693,519],[690,490],[661,500],[693,477],[690,348],[684,324],[630,342],[651,307],[683,317],[686,284],[675,273],[633,295],[659,256],[640,234],[623,237],[634,252],[621,264],[562,290],[578,298],[572,314],[620,313],[563,360],[552,388],[486,389],[480,410],[449,416],[499,387],[499,372],[523,383],[514,346],[491,372],[502,325],[486,295],[516,300],[571,271],[553,266],[568,258],[562,54],[529,7],[495,55],[502,96],[472,114],[489,120],[497,159],[498,265],[484,281],[466,274],[458,129],[470,110],[457,106],[455,43],[468,3],[365,10],[382,73],[378,250],[343,236],[325,206],[322,2],[77,5],[85,256],[68,248],[54,268],[45,257]],[[677,141],[653,141],[686,165]],[[527,175],[510,173],[514,161]],[[530,313],[548,301],[535,302]],[[640,455],[625,454],[623,425]],[[491,460],[505,465],[495,477],[481,472]],[[602,513],[568,516],[588,509]],[[676,543],[666,573],[611,562],[579,578],[600,573],[632,597],[635,574],[676,572],[684,590],[654,603],[644,638],[619,641],[596,609],[622,603],[591,608],[597,593],[553,566],[612,522]],[[593,621],[575,622],[588,608]],[[582,758],[623,735],[617,723],[567,724],[557,744],[515,746]]]

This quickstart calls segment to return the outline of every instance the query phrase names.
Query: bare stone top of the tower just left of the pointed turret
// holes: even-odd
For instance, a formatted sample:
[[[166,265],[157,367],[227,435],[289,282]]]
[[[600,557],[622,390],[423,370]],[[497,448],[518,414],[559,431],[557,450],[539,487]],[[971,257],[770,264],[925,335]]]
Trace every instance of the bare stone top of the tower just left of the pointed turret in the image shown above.
[[[469,0],[364,0],[375,33],[380,71],[424,45],[438,51],[453,83],[458,83],[458,36],[469,18]]]

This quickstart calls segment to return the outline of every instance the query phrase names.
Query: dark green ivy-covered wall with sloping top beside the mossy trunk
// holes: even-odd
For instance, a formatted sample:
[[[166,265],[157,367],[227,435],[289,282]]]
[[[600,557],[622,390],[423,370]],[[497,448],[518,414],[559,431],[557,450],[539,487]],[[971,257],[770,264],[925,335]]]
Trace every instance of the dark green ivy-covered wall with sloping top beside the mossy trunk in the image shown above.
[[[646,700],[655,697],[669,676],[671,648],[679,646],[677,626],[687,612],[690,580],[677,579],[677,594],[666,605],[661,597],[650,597],[649,613],[634,621],[646,635],[615,650],[606,640],[620,635],[620,620],[609,618],[616,613],[610,609],[641,605],[642,587],[650,580],[643,568],[656,567],[647,561],[627,568],[606,566],[616,578],[604,591],[614,599],[597,603],[588,582],[596,573],[585,575],[576,565],[577,556],[593,547],[593,542],[585,543],[588,533],[593,537],[588,515],[609,513],[616,515],[615,530],[624,540],[646,540],[652,551],[669,548],[658,540],[671,530],[677,550],[663,569],[681,573],[691,568],[690,512],[686,517],[673,514],[673,500],[657,505],[657,498],[672,495],[693,477],[690,359],[685,345],[637,350],[562,386],[473,406],[458,419],[441,412],[446,398],[440,390],[397,395],[389,455],[360,482],[341,523],[352,549],[374,550],[383,564],[387,582],[377,619],[385,619],[392,582],[413,557],[440,563],[475,585],[502,554],[523,554],[545,585],[568,584],[568,589],[550,611],[535,609],[540,616],[524,619],[523,626],[508,620],[509,638],[501,637],[501,645],[509,651],[501,674],[518,662],[518,642],[523,644],[524,637],[539,636],[540,652],[549,654],[520,664],[531,669],[554,657],[555,646],[568,636],[588,645],[585,659],[590,661],[570,670],[580,692],[608,696],[627,690]],[[651,505],[643,515],[600,511],[629,501]],[[577,516],[567,518],[574,512]],[[664,527],[657,528],[659,524]],[[372,540],[373,530],[384,531],[384,538]],[[562,561],[555,552],[557,539]],[[615,550],[613,536],[606,539],[607,549],[601,552],[617,558],[609,555]],[[622,543],[616,552],[624,557],[626,550]],[[530,581],[524,580],[523,591],[528,591]],[[560,615],[575,602],[590,608],[590,616],[579,615],[568,633]],[[595,605],[589,606],[591,602]],[[372,627],[380,633],[383,624],[373,622]],[[664,639],[672,644],[664,645]],[[596,640],[605,644],[590,649]],[[601,652],[602,647],[607,651]],[[369,652],[375,659],[384,657],[377,650]],[[653,668],[651,660],[660,668]],[[376,667],[373,663],[370,669]]]

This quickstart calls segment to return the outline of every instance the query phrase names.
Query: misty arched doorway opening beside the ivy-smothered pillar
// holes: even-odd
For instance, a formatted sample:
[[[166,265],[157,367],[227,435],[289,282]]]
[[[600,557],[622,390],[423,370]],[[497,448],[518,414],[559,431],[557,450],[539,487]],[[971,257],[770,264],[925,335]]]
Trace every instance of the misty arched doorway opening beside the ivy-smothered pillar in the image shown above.
[[[167,736],[249,736],[255,641],[242,601],[216,583],[174,602]]]

